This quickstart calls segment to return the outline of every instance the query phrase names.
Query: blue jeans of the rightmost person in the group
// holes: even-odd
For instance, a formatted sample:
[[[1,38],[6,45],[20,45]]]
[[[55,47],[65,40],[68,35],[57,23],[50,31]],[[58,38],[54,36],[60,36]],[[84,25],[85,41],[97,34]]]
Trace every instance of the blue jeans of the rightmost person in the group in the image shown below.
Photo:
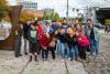
[[[92,53],[98,54],[99,53],[99,41],[90,40],[90,54]]]

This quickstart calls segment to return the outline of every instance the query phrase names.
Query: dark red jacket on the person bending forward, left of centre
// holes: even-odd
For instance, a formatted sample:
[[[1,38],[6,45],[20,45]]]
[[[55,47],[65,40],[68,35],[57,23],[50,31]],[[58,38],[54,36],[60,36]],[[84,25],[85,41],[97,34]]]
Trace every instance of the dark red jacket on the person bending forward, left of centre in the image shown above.
[[[47,38],[46,35],[43,34],[40,40],[41,46],[48,47],[51,40],[52,40],[51,38]]]

